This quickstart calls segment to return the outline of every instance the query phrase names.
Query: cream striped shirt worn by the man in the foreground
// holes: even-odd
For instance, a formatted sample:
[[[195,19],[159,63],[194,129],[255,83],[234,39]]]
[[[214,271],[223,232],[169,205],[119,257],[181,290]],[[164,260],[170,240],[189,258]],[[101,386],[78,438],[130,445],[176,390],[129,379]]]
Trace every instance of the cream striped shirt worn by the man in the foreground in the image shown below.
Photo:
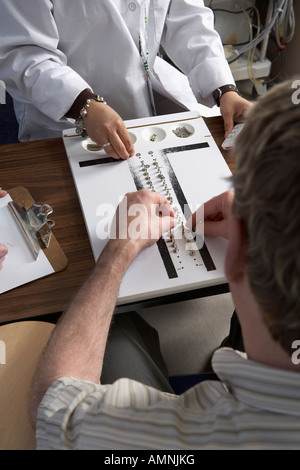
[[[37,449],[299,449],[300,374],[215,352],[220,381],[182,395],[130,379],[57,380],[39,407]]]

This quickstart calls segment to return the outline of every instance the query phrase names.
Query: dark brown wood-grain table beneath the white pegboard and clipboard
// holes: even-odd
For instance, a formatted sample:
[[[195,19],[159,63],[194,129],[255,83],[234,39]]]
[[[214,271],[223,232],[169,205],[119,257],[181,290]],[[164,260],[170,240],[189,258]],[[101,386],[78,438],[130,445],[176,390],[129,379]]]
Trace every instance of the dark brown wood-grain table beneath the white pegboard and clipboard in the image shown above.
[[[206,123],[222,151],[222,118],[207,118]],[[229,153],[222,153],[233,172],[234,157]],[[25,186],[36,202],[47,203],[53,207],[53,233],[68,258],[68,266],[64,271],[1,294],[0,322],[61,312],[94,266],[62,139],[0,146],[0,186],[5,189]],[[203,295],[206,294],[204,290]],[[173,296],[172,301],[177,300],[183,299]],[[164,302],[168,301],[171,300],[164,299]],[[154,305],[154,302],[155,300],[148,305]],[[129,306],[126,306],[125,310],[128,308]],[[119,311],[122,311],[121,307]]]

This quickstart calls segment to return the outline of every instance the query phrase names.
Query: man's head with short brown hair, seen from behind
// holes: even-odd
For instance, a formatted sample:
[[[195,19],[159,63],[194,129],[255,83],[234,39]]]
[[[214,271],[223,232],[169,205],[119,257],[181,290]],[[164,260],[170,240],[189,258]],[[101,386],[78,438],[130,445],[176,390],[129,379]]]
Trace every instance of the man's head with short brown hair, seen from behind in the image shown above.
[[[246,272],[273,339],[300,339],[300,104],[293,81],[251,109],[239,135],[233,213],[245,231]]]

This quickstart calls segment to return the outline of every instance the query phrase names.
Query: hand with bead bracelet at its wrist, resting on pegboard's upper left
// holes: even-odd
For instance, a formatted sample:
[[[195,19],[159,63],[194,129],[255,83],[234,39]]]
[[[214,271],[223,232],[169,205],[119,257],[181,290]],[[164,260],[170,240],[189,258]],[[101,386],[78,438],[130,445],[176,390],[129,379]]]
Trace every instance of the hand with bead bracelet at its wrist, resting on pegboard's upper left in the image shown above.
[[[91,100],[83,118],[88,136],[98,145],[110,143],[105,152],[115,159],[126,160],[135,153],[122,118],[110,106]]]

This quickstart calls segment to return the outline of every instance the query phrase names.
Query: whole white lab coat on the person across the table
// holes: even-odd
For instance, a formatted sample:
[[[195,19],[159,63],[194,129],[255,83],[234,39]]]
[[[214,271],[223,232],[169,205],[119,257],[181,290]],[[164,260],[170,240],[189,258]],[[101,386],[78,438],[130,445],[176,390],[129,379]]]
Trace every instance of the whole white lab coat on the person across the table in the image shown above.
[[[74,127],[63,116],[85,88],[102,95],[123,119],[151,115],[138,48],[139,33],[146,37],[148,4],[155,90],[181,101],[176,86],[166,90],[161,84],[166,64],[156,60],[160,44],[199,102],[212,106],[212,91],[234,83],[212,12],[201,0],[2,0],[0,79],[14,98],[21,141]]]

